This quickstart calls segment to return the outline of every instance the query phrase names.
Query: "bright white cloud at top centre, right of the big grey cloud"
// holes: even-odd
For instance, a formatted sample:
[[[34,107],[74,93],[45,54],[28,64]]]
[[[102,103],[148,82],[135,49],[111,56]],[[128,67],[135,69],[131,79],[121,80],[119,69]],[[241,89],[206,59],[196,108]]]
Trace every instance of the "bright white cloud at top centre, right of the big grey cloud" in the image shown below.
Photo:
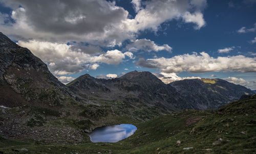
[[[195,23],[195,29],[205,25],[202,11],[207,6],[205,0],[147,1],[134,19],[123,21],[123,28],[131,32],[145,29],[157,31],[159,25],[173,19],[183,19],[186,23]]]

